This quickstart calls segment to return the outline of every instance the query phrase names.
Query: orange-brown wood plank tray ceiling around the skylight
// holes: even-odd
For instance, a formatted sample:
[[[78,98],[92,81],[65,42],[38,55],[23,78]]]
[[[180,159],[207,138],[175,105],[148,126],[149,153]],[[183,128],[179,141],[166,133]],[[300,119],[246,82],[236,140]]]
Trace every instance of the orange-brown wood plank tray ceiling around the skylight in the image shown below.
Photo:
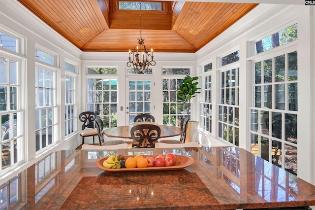
[[[119,0],[18,1],[82,51],[126,52],[140,38],[140,11],[118,9]],[[161,11],[142,10],[142,38],[155,52],[196,52],[258,5],[160,2]]]

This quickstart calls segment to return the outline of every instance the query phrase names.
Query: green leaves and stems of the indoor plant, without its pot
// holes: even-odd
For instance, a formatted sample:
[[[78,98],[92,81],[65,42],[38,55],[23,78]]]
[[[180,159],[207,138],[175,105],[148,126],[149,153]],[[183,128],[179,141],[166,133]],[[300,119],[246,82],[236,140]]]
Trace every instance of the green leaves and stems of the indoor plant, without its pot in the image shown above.
[[[198,85],[198,76],[191,77],[186,75],[183,79],[183,83],[177,88],[177,102],[184,103],[184,105],[188,104],[188,118],[190,119],[190,100],[191,98],[195,97],[197,93],[200,93],[198,90],[200,89],[197,87]],[[185,113],[185,106],[184,106],[184,113]]]

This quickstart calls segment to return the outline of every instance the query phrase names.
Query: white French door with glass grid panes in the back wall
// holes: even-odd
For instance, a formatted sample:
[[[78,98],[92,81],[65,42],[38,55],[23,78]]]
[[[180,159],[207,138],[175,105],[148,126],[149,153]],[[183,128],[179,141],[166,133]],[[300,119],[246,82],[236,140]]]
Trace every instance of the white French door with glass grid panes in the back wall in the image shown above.
[[[138,114],[154,115],[154,77],[126,77],[126,125]]]

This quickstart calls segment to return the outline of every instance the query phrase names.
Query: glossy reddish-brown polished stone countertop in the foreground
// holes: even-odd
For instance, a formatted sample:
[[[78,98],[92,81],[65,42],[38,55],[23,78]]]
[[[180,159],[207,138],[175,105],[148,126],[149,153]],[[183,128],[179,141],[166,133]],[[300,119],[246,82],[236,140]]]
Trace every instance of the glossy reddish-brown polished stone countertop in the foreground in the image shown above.
[[[112,154],[189,155],[178,171],[105,172],[97,158]],[[51,158],[54,157],[54,158]],[[22,209],[231,210],[315,205],[315,186],[237,147],[60,151],[21,174]],[[48,163],[50,164],[48,164]],[[56,164],[55,167],[51,167]],[[53,170],[48,170],[47,167]]]

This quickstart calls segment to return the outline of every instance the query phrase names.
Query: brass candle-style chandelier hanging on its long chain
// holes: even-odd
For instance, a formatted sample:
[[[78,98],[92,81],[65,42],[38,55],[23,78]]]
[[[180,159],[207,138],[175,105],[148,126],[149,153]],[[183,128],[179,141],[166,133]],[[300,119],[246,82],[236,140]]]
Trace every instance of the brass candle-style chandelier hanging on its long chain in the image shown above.
[[[149,66],[155,66],[156,62],[153,60],[153,49],[151,48],[151,54],[148,52],[146,46],[144,45],[144,39],[142,39],[142,9],[140,0],[140,39],[138,38],[138,45],[133,48],[133,51],[129,49],[129,61],[127,62],[127,67],[133,67],[138,74],[142,74],[145,70],[148,70]],[[131,59],[132,55],[132,59]],[[149,61],[151,57],[151,61]]]

